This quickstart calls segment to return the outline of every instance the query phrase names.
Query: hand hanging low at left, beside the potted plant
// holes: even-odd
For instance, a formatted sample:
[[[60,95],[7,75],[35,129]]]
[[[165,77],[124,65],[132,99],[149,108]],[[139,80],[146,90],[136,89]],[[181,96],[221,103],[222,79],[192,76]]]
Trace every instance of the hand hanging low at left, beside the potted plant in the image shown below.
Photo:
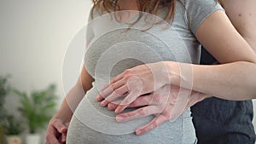
[[[52,118],[47,128],[46,144],[64,144],[67,139],[68,124],[60,118]]]

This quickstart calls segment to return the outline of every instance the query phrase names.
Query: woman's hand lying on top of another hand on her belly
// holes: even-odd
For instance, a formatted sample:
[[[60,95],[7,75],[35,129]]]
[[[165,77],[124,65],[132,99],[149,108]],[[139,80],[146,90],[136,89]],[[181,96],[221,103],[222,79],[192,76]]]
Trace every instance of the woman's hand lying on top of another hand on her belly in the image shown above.
[[[145,95],[159,89],[165,84],[170,84],[168,69],[164,61],[135,66],[117,77],[103,87],[100,95],[96,96],[96,101],[102,101],[102,107],[106,107],[110,101],[127,94],[115,112],[122,112],[138,96]]]

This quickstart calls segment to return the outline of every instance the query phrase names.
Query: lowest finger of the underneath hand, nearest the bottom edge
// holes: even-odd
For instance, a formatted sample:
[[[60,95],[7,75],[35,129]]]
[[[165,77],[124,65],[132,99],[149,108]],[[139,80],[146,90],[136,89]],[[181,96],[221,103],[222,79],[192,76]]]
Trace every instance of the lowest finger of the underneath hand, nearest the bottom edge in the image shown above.
[[[146,125],[138,128],[137,130],[135,130],[135,133],[137,135],[143,135],[143,134],[147,133],[148,131],[155,129],[160,124],[163,124],[164,122],[166,122],[166,120],[168,120],[168,119],[165,116],[159,115],[158,117],[155,117],[149,124],[146,124]]]

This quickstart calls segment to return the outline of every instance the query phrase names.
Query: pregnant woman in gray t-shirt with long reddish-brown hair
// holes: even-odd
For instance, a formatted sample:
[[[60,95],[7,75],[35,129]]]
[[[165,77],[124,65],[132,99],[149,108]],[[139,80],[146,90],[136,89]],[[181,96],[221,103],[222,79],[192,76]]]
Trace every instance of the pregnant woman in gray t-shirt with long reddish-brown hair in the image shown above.
[[[61,143],[65,141],[67,125],[64,124],[67,124],[72,118],[67,134],[67,143],[71,144],[196,143],[195,130],[189,111],[184,112],[179,118],[161,124],[160,127],[147,134],[135,135],[132,131],[138,125],[147,124],[154,116],[119,124],[115,120],[116,114],[114,112],[108,111],[107,108],[101,107],[101,103],[96,102],[96,95],[99,95],[100,89],[104,84],[107,84],[109,79],[126,69],[139,65],[143,68],[143,64],[149,63],[148,66],[154,71],[154,74],[158,75],[155,75],[155,79],[148,77],[145,82],[154,86],[149,86],[148,90],[143,90],[134,95],[143,93],[143,95],[147,95],[147,93],[154,90],[152,87],[160,88],[165,84],[171,84],[170,81],[172,84],[179,86],[183,77],[178,72],[179,68],[175,61],[198,64],[201,47],[199,42],[220,62],[226,64],[219,66],[193,65],[193,77],[195,78],[193,88],[190,87],[191,81],[186,73],[183,73],[185,74],[184,79],[189,79],[189,81],[184,81],[185,84],[182,86],[207,95],[228,95],[227,90],[219,90],[220,86],[218,84],[225,84],[224,77],[237,78],[239,76],[235,72],[237,70],[243,69],[243,72],[246,72],[251,80],[249,80],[249,83],[243,84],[241,78],[238,78],[235,83],[246,85],[249,88],[255,84],[252,73],[255,71],[256,60],[252,49],[230,24],[223,9],[213,0],[150,1],[150,3],[148,1],[138,1],[137,3],[133,0],[124,0],[114,2],[116,1],[111,1],[111,3],[109,1],[98,1],[98,3],[95,3],[92,15],[94,19],[99,17],[102,17],[102,19],[96,20],[96,23],[92,22],[93,25],[89,26],[87,40],[90,44],[85,55],[83,71],[78,84],[71,89],[67,99],[63,101],[61,110],[52,119],[51,124],[55,125],[49,125],[51,133],[48,135],[50,141],[47,142]],[[113,30],[115,26],[101,23],[102,20],[106,22],[106,19],[107,21],[113,21],[117,18],[111,20],[113,17],[109,14],[106,16],[104,13],[117,9],[140,10],[157,14],[161,19],[170,22],[172,26],[166,28],[165,22],[154,20],[154,17],[147,16],[148,14],[128,14],[129,24],[125,23],[123,25],[128,25],[129,29],[127,29],[127,26],[122,28],[121,25],[121,28],[108,31],[109,27]],[[121,18],[125,17],[124,15],[127,16],[126,13],[118,13],[117,15]],[[112,23],[110,22],[110,24]],[[225,31],[225,36],[223,31]],[[168,40],[166,41],[166,39]],[[185,69],[191,68],[191,65],[184,65],[184,67]],[[167,71],[165,71],[166,69]],[[145,70],[147,70],[145,72],[148,72],[148,69]],[[192,72],[192,69],[189,70]],[[211,71],[217,73],[217,75],[209,76],[207,74],[205,81],[204,78],[199,78],[199,75],[203,75],[203,72]],[[230,72],[234,73],[230,74]],[[216,76],[222,76],[223,78],[216,78]],[[137,82],[137,79],[135,79],[135,82]],[[209,83],[216,85],[210,85]],[[237,84],[226,85],[232,88],[236,87]],[[137,85],[143,87],[145,84],[142,81],[142,84],[138,83]],[[86,93],[85,96],[83,95],[83,89]],[[166,92],[165,89],[162,89],[162,91],[163,93]],[[253,92],[242,91],[241,93],[252,95]],[[78,103],[79,106],[76,108]],[[104,105],[102,103],[102,106]],[[76,111],[73,113],[75,108]],[[55,137],[60,139],[56,140]]]

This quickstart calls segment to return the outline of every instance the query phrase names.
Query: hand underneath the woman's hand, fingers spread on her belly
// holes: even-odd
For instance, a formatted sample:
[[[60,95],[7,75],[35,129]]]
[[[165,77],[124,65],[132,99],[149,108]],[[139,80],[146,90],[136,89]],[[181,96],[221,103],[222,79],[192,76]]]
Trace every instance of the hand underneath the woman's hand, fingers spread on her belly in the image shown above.
[[[118,114],[116,120],[125,122],[154,114],[155,118],[150,123],[137,128],[135,131],[137,135],[143,135],[167,120],[178,118],[189,107],[204,100],[206,97],[207,95],[168,84],[155,90],[154,93],[138,97],[129,107],[140,108],[132,112]],[[109,103],[108,109],[115,110],[119,107],[117,103],[119,101]]]

